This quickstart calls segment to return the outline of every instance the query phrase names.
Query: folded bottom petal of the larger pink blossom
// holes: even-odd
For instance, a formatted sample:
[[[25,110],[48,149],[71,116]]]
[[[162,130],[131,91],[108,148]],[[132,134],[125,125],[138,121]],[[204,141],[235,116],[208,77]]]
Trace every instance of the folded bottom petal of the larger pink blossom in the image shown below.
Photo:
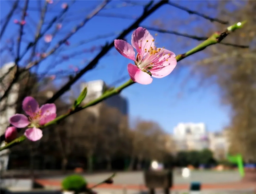
[[[148,73],[141,71],[136,65],[133,65],[132,63],[128,64],[127,69],[132,81],[134,82],[147,85],[151,84],[153,81]]]

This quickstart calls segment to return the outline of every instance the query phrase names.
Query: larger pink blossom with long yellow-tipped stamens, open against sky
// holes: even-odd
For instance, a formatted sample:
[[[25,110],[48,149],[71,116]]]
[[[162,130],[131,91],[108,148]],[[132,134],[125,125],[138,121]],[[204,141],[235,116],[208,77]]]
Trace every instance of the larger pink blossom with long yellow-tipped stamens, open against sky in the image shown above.
[[[153,79],[169,75],[177,64],[175,54],[164,48],[156,48],[155,40],[148,30],[138,27],[132,33],[132,45],[123,40],[115,40],[116,50],[135,62],[128,64],[128,73],[134,82],[150,84]],[[135,58],[134,49],[137,51]]]

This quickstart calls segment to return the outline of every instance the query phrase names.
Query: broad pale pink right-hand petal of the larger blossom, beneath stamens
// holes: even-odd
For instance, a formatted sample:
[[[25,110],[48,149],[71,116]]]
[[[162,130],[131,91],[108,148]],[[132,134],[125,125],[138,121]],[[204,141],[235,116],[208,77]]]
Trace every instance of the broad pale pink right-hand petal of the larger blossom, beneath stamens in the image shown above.
[[[177,64],[177,60],[173,56],[170,56],[168,57],[168,61],[166,61],[166,59],[164,58],[161,64],[153,67],[149,71],[151,72],[152,77],[163,78],[169,75],[173,71],[173,69],[176,67],[176,64]]]

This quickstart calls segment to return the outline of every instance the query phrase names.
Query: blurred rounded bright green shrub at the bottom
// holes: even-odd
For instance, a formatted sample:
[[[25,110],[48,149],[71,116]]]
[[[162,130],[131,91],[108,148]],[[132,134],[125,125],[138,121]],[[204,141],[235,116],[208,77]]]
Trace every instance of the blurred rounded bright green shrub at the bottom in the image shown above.
[[[70,175],[62,181],[63,190],[75,191],[75,193],[85,191],[86,185],[87,183],[81,175]]]

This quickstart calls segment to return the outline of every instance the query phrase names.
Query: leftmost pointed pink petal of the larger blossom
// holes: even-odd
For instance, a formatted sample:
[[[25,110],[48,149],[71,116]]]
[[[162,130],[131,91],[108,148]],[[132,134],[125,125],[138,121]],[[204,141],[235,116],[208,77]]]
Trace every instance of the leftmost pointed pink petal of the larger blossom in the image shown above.
[[[115,40],[115,48],[116,50],[123,55],[124,57],[131,59],[135,61],[135,52],[132,47],[128,42],[123,41],[123,40]]]

